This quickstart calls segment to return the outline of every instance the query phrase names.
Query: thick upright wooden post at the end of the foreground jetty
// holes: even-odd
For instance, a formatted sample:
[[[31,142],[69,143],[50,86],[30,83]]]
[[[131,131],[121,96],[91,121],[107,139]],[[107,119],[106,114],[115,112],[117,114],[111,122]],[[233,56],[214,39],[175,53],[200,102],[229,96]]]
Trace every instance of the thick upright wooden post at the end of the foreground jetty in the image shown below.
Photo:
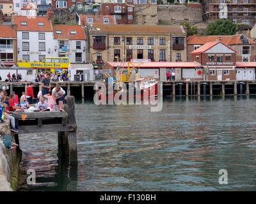
[[[67,105],[65,106],[65,111],[68,113],[68,124],[76,125],[75,98],[74,98],[74,96],[68,96],[67,97]],[[69,153],[70,165],[75,166],[75,165],[77,165],[76,131],[66,132],[65,135],[67,135],[67,141],[66,142],[68,142],[68,153]]]

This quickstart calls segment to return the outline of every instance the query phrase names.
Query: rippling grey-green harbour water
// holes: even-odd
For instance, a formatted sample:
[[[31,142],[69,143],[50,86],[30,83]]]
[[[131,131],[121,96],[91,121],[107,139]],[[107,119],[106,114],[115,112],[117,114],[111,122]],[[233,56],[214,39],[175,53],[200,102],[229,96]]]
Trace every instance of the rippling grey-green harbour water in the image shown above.
[[[20,135],[20,191],[256,190],[255,96],[165,98],[161,112],[77,101],[76,119],[77,169],[58,158],[56,134]]]

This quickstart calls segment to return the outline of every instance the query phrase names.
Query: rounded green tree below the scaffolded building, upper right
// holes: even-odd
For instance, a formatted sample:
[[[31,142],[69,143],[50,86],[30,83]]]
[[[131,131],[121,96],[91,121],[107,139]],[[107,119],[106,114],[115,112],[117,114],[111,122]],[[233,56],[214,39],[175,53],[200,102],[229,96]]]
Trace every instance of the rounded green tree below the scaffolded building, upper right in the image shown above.
[[[232,35],[236,34],[237,31],[237,24],[233,24],[231,20],[217,19],[207,25],[205,34],[207,36]]]

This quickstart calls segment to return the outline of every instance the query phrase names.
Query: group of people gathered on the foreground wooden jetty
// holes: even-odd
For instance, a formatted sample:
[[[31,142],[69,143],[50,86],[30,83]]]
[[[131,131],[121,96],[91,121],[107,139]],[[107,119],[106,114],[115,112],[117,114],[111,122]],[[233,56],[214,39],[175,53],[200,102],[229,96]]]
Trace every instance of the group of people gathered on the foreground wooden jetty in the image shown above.
[[[51,86],[51,73],[45,73],[41,81],[42,91],[37,94],[36,103],[34,103],[34,84],[30,82],[26,92],[19,96],[14,91],[8,96],[6,91],[0,92],[0,117],[1,122],[4,119],[10,119],[11,131],[18,133],[19,127],[13,112],[44,112],[44,111],[63,111],[63,103],[66,98],[66,92],[59,84]]]

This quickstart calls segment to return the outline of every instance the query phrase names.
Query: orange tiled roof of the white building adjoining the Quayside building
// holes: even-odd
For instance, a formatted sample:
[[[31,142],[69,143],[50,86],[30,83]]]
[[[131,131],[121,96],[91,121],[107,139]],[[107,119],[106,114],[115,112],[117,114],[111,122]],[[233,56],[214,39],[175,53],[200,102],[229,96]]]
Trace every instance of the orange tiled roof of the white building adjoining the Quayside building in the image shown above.
[[[54,25],[53,31],[56,39],[86,40],[82,25]],[[61,31],[61,34],[57,34],[56,31]],[[76,34],[71,34],[71,31],[76,31]]]

